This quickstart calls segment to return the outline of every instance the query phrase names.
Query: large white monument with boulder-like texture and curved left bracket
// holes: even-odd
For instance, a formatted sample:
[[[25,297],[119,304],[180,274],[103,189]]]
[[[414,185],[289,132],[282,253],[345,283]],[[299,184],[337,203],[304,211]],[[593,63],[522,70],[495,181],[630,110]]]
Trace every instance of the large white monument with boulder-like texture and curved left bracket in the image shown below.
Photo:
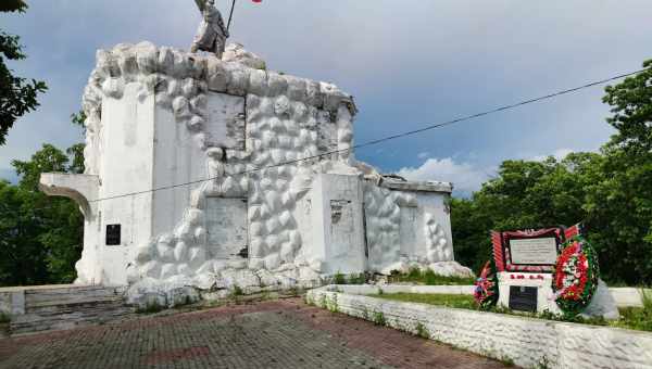
[[[86,173],[41,178],[84,213],[77,283],[314,285],[412,265],[471,275],[453,260],[452,186],[356,162],[356,107],[334,85],[266,71],[238,44],[222,60],[149,42],[97,59]]]

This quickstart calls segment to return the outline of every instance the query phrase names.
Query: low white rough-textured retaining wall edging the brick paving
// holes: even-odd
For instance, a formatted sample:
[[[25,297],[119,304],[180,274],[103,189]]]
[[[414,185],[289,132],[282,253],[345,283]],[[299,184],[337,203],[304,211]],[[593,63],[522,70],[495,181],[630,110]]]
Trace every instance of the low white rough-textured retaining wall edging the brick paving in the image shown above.
[[[381,313],[389,327],[415,334],[421,325],[431,340],[510,358],[525,368],[652,368],[648,332],[397,303],[329,289],[309,291],[309,302],[367,320]]]

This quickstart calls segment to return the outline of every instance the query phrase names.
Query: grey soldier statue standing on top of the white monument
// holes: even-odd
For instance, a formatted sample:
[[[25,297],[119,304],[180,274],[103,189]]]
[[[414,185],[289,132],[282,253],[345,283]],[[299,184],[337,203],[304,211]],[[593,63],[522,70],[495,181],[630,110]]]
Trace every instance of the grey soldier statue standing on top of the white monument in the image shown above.
[[[195,0],[202,14],[202,22],[195,36],[190,52],[213,52],[220,59],[226,47],[228,29],[224,26],[222,13],[215,8],[215,0]]]

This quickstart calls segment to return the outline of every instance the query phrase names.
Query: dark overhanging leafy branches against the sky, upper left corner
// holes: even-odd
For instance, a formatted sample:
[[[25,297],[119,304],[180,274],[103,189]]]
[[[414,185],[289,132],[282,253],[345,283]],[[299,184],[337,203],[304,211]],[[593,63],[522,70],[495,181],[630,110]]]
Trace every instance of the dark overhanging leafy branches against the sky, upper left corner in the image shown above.
[[[2,0],[0,12],[24,12],[27,4],[21,0]],[[9,129],[17,118],[35,110],[39,104],[38,93],[48,87],[43,81],[16,77],[5,64],[5,60],[25,59],[20,37],[0,30],[0,145],[5,143]]]

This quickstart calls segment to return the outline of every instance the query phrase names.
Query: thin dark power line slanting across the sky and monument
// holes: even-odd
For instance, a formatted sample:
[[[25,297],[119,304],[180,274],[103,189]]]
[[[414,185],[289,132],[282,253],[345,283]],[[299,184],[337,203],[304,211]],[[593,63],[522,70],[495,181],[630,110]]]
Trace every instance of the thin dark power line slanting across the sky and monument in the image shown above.
[[[584,89],[587,89],[587,88],[590,88],[590,87],[594,87],[594,86],[599,86],[599,85],[604,85],[604,84],[610,82],[610,81],[614,81],[614,80],[617,80],[617,79],[629,77],[629,76],[639,74],[641,72],[644,72],[648,68],[643,68],[643,69],[639,69],[639,71],[636,71],[636,72],[619,74],[619,75],[616,75],[616,76],[613,76],[613,77],[609,77],[609,78],[601,79],[601,80],[598,80],[598,81],[592,81],[592,82],[589,82],[589,84],[586,84],[586,85],[581,85],[581,86],[578,86],[578,87],[574,87],[574,88],[570,88],[570,89],[561,90],[561,91],[553,92],[553,93],[550,93],[550,94],[546,94],[546,96],[542,96],[542,97],[524,100],[524,101],[521,101],[521,102],[517,102],[517,103],[513,103],[513,104],[509,104],[509,105],[503,105],[503,106],[496,107],[496,109],[492,109],[492,110],[489,110],[489,111],[485,111],[485,112],[481,112],[481,113],[476,113],[476,114],[472,114],[472,115],[462,116],[462,117],[459,117],[459,118],[454,118],[452,120],[447,120],[447,122],[437,123],[437,124],[427,124],[427,126],[424,127],[424,128],[409,130],[409,131],[401,132],[401,133],[396,133],[396,135],[392,135],[392,136],[387,136],[387,137],[379,138],[379,139],[376,139],[376,140],[372,140],[372,141],[367,141],[367,142],[364,142],[364,143],[355,144],[355,145],[353,145],[353,147],[351,147],[349,149],[334,150],[334,151],[329,151],[329,152],[325,152],[325,153],[321,153],[321,154],[316,154],[316,155],[312,155],[312,156],[308,156],[308,157],[302,157],[302,158],[298,158],[298,160],[293,160],[293,161],[283,162],[283,163],[278,163],[278,164],[274,164],[274,165],[264,166],[264,167],[258,167],[258,168],[253,168],[253,169],[250,169],[250,170],[244,170],[244,171],[231,174],[230,176],[243,176],[243,175],[252,174],[252,173],[255,173],[255,171],[260,171],[260,170],[264,170],[264,169],[268,169],[268,168],[275,168],[275,167],[279,167],[279,166],[284,166],[284,165],[290,165],[290,164],[301,163],[301,162],[311,161],[311,160],[322,160],[323,157],[327,157],[327,156],[330,156],[330,155],[334,155],[334,154],[341,154],[341,153],[346,153],[346,152],[351,152],[351,151],[354,151],[356,149],[362,149],[362,148],[366,148],[366,147],[379,144],[379,143],[383,143],[383,142],[386,142],[386,141],[396,140],[396,139],[408,137],[408,136],[414,136],[414,135],[417,135],[417,133],[421,133],[421,132],[425,132],[425,131],[428,131],[428,130],[432,130],[432,129],[437,129],[437,128],[441,128],[441,127],[446,127],[446,126],[451,126],[451,125],[454,125],[454,124],[457,124],[457,123],[462,123],[462,122],[465,122],[465,120],[471,120],[471,119],[479,118],[479,117],[482,117],[482,116],[487,116],[487,115],[490,115],[490,114],[496,114],[496,113],[499,113],[499,112],[503,112],[503,111],[516,109],[516,107],[519,107],[519,106],[523,106],[523,105],[527,105],[527,104],[540,102],[540,101],[543,101],[543,100],[550,100],[550,99],[553,99],[553,98],[556,98],[556,97],[560,97],[560,96],[563,96],[563,94],[568,94],[568,93],[577,92],[577,91],[580,91],[580,90],[584,90]],[[199,179],[199,180],[193,180],[193,181],[189,181],[189,182],[183,182],[183,183],[176,183],[176,184],[171,184],[171,186],[158,187],[158,188],[150,189],[150,190],[135,191],[135,192],[124,193],[124,194],[120,194],[120,195],[100,198],[100,199],[97,199],[97,200],[90,200],[89,203],[97,203],[97,202],[101,202],[101,201],[115,200],[115,199],[127,198],[127,196],[135,196],[135,195],[139,195],[139,194],[146,194],[146,193],[156,192],[156,191],[172,190],[172,189],[179,188],[179,187],[199,184],[199,183],[202,183],[202,182],[215,180],[217,178],[221,178],[221,177],[211,177],[211,178]]]

